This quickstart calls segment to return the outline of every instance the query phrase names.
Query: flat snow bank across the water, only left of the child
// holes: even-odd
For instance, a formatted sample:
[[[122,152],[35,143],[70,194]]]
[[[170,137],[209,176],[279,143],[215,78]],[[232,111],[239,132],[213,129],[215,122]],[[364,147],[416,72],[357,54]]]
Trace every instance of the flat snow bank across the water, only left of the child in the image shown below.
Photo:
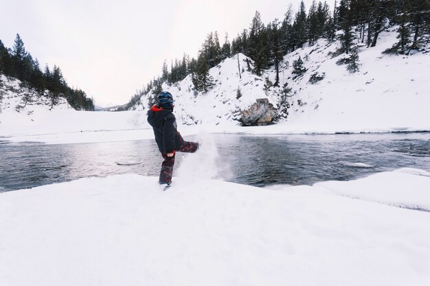
[[[31,119],[5,112],[0,137],[14,142],[92,143],[152,139],[143,112],[43,110]]]

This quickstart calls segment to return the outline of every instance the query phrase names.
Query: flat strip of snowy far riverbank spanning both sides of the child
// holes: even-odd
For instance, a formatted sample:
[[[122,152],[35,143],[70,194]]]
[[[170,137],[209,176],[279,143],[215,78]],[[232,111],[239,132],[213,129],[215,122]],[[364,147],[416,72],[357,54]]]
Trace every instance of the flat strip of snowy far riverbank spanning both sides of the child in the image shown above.
[[[153,139],[144,111],[86,112],[54,110],[36,112],[27,117],[18,112],[0,115],[0,139],[13,142],[93,143]],[[335,120],[333,120],[335,121]],[[272,126],[241,127],[235,122],[214,125],[179,126],[184,136],[201,133],[236,134],[335,134],[368,132],[430,131],[427,118],[409,125],[381,123],[371,120],[339,121],[324,124],[318,121],[291,123],[282,121]],[[3,137],[3,138],[1,138]]]

